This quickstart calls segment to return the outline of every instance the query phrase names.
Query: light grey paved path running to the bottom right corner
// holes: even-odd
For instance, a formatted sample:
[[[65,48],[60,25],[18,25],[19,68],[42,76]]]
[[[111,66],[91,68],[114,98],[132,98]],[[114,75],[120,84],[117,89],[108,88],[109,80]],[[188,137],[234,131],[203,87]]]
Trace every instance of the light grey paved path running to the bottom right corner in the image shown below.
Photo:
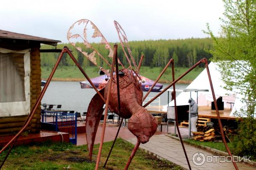
[[[128,142],[135,144],[137,142],[137,138],[128,139]],[[204,164],[198,166],[192,162],[192,156],[195,153],[201,152],[205,156],[212,156],[213,154],[191,146],[189,144],[184,144],[186,153],[189,157],[189,163],[192,167],[192,170],[234,170],[234,166],[232,162],[205,162]],[[154,135],[151,137],[148,143],[140,144],[141,149],[148,150],[151,153],[156,154],[160,158],[167,159],[174,164],[180,165],[184,169],[189,169],[189,166],[186,161],[185,154],[183,152],[182,146],[180,141],[165,136],[164,134],[161,135]],[[256,170],[255,167],[251,167],[247,164],[237,163],[239,170]]]

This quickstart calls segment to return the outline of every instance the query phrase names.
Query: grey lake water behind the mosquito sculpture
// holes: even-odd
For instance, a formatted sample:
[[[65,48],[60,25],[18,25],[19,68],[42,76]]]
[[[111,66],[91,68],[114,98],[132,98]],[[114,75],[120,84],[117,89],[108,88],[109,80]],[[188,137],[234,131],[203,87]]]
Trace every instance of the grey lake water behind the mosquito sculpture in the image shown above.
[[[169,84],[163,84],[165,88]],[[176,84],[176,89],[186,88],[187,84]],[[62,110],[74,110],[86,112],[90,100],[96,94],[92,88],[81,89],[79,82],[50,82],[41,103],[62,105]],[[143,92],[145,95],[146,92]],[[177,95],[179,93],[177,92]],[[156,92],[151,92],[148,97],[156,96]],[[171,93],[170,93],[171,99]],[[160,96],[160,105],[167,105],[167,91]]]

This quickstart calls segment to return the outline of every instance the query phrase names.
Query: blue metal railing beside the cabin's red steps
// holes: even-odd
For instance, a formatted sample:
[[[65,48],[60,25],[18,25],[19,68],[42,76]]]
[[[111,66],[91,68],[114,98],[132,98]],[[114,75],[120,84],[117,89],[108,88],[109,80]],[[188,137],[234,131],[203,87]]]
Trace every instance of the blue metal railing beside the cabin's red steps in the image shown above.
[[[41,111],[41,125],[47,127],[48,130],[59,131],[61,127],[72,127],[70,142],[77,143],[77,115],[76,113],[63,113],[58,111]],[[52,118],[50,118],[52,117]]]

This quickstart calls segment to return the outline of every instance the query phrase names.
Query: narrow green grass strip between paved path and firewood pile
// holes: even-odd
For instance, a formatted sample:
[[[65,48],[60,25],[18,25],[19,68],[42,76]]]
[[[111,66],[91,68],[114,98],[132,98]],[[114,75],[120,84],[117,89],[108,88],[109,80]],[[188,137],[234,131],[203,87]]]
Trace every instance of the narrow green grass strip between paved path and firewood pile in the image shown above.
[[[225,147],[224,143],[222,143],[222,142],[200,142],[200,141],[194,140],[194,139],[186,139],[186,142],[189,144],[195,145],[195,146],[203,145],[203,146],[207,146],[207,147],[210,147],[213,149],[227,152],[226,147]],[[230,149],[232,149],[234,146],[234,143],[230,142],[230,143],[227,143],[227,145]]]

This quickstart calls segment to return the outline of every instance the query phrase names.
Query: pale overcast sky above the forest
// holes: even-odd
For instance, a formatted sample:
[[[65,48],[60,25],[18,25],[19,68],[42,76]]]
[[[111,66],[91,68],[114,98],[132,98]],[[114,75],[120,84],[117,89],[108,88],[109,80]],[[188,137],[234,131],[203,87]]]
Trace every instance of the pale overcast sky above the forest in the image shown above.
[[[0,29],[67,42],[80,19],[91,20],[109,42],[119,41],[113,21],[128,40],[207,37],[224,12],[221,0],[2,0]]]

